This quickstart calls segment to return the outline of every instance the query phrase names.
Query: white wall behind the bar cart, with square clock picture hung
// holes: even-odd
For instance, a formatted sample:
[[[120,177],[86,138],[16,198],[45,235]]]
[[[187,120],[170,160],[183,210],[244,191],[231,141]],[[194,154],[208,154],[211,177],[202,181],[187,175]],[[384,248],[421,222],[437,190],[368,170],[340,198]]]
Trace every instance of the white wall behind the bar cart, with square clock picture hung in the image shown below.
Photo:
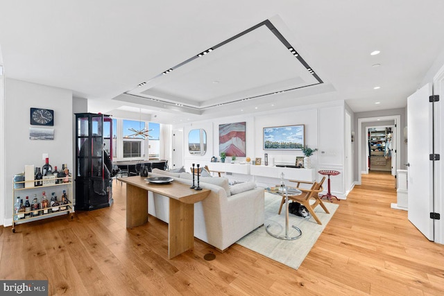
[[[5,226],[12,224],[12,178],[24,171],[25,164],[41,167],[42,153],[49,154],[49,163],[61,168],[68,164],[73,169],[73,103],[72,92],[67,89],[47,87],[19,80],[6,79],[6,130],[5,175],[6,214]],[[54,110],[54,140],[29,139],[30,108]]]

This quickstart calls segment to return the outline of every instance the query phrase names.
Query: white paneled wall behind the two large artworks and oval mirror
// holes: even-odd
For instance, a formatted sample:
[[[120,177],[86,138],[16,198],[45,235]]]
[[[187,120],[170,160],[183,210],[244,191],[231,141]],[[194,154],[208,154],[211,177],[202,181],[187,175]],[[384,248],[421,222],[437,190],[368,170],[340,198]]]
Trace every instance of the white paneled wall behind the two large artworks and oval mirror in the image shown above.
[[[294,164],[297,156],[303,156],[302,150],[264,150],[263,149],[263,129],[273,126],[300,125],[305,127],[305,144],[311,148],[319,150],[311,157],[311,164],[314,170],[335,169],[341,175],[335,176],[332,181],[332,191],[339,197],[345,197],[345,185],[343,184],[344,170],[344,118],[345,105],[343,101],[336,101],[327,104],[317,104],[302,107],[292,107],[289,110],[280,112],[268,112],[245,116],[230,116],[212,121],[198,121],[187,123],[186,125],[175,125],[173,129],[183,128],[183,164],[189,171],[191,164],[210,163],[212,156],[219,156],[219,125],[225,123],[246,122],[246,156],[252,160],[256,157],[264,159],[264,153],[268,154],[268,163],[272,159],[275,162],[286,162]],[[207,132],[207,153],[203,156],[191,155],[187,149],[188,134],[190,130],[203,128]],[[323,153],[322,153],[323,152]],[[322,154],[320,154],[322,153]],[[246,157],[237,157],[237,162],[245,161]],[[226,160],[230,162],[230,159]],[[242,180],[241,176],[239,177]],[[316,175],[317,180],[322,178]],[[325,187],[326,189],[326,187]]]

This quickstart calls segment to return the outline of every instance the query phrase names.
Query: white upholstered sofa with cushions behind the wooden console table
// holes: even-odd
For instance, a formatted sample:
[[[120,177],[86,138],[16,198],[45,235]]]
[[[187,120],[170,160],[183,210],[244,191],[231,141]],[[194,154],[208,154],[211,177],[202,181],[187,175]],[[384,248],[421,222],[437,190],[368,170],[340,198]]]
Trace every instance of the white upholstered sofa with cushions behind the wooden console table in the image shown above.
[[[168,175],[173,177],[173,182],[182,182],[190,186],[192,184],[192,175],[189,173],[153,169],[151,175]],[[230,188],[226,177],[200,177],[200,187],[210,189],[211,193],[205,200],[194,204],[196,238],[223,252],[264,224],[264,189],[255,188],[255,183],[246,182]],[[148,214],[168,223],[169,198],[150,192]]]

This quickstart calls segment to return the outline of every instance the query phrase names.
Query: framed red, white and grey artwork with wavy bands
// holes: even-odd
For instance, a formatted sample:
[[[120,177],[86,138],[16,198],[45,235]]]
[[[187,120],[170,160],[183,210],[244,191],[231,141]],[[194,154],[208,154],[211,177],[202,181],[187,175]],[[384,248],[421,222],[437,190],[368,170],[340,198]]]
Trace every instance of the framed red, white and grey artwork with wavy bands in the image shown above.
[[[245,122],[219,125],[219,155],[245,157]]]

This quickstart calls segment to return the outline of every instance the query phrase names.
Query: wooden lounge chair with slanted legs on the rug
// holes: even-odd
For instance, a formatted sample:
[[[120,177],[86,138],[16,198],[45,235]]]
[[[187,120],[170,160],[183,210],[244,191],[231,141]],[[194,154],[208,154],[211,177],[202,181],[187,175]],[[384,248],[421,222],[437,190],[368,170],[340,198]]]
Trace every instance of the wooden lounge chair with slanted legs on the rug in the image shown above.
[[[305,206],[309,211],[309,213],[311,214],[311,216],[313,216],[314,220],[316,220],[316,222],[320,225],[322,225],[321,220],[319,220],[318,216],[316,216],[316,214],[314,213],[314,208],[316,208],[319,204],[324,209],[325,213],[330,214],[330,211],[327,210],[325,204],[322,202],[321,198],[319,198],[319,193],[323,191],[322,184],[324,183],[324,181],[325,177],[322,178],[321,182],[314,182],[313,185],[311,186],[311,189],[305,189],[305,188],[300,188],[299,187],[300,184],[301,183],[311,184],[311,182],[290,180],[290,182],[298,183],[298,186],[296,188],[302,191],[302,194],[296,196],[295,195],[289,196],[289,200],[299,202],[300,204]],[[311,199],[314,200],[313,204],[310,204]],[[280,214],[280,212],[282,211],[282,205],[284,203],[285,203],[285,196],[282,196],[278,214]]]

